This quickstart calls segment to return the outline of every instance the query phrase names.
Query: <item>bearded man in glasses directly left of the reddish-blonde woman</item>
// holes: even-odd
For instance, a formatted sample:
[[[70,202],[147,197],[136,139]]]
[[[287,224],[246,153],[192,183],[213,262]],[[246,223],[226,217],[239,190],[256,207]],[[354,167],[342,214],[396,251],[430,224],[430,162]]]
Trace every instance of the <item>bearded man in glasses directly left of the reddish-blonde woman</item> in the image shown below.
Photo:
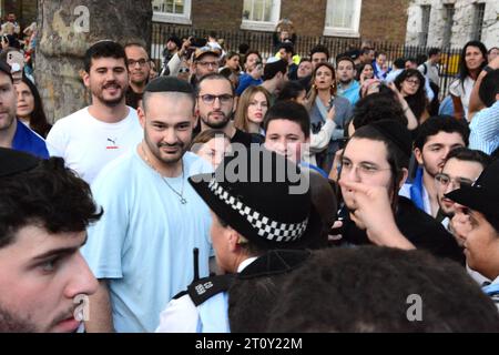
[[[201,131],[222,130],[231,143],[249,148],[252,143],[263,143],[259,134],[249,134],[234,126],[234,88],[224,75],[214,73],[203,77],[197,84],[196,112],[201,120]]]

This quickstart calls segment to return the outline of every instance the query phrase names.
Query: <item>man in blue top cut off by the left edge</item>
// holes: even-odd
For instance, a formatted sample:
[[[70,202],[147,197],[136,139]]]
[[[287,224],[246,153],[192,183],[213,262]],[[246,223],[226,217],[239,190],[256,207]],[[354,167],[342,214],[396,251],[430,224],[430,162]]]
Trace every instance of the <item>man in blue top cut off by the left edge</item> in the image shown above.
[[[17,94],[10,65],[0,60],[0,146],[49,158],[43,139],[16,118]]]

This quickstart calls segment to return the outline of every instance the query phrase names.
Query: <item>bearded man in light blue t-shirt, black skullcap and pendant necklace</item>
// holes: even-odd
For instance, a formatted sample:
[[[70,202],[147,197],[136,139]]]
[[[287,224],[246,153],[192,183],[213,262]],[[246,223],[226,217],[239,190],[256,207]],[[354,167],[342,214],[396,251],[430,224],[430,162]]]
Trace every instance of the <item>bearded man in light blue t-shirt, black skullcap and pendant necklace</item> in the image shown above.
[[[92,184],[105,214],[88,230],[83,255],[99,290],[91,297],[89,332],[153,332],[161,310],[194,278],[208,274],[210,212],[189,184],[211,164],[186,152],[195,123],[194,90],[160,77],[145,88],[139,118],[144,139]]]

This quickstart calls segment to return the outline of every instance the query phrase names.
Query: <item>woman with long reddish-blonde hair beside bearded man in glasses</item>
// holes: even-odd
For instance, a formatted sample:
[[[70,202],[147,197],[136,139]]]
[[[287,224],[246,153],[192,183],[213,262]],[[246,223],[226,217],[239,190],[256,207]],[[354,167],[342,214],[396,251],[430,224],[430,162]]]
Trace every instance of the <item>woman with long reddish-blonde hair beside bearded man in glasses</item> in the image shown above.
[[[265,135],[263,121],[271,104],[271,94],[263,87],[249,87],[240,98],[234,125],[246,133]]]

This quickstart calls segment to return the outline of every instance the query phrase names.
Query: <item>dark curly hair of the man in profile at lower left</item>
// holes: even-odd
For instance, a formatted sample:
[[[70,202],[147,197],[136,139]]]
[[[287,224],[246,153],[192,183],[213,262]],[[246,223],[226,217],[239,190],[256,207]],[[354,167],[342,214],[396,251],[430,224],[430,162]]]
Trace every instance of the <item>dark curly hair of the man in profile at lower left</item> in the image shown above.
[[[51,234],[81,232],[102,213],[89,184],[61,158],[42,160],[30,171],[0,180],[0,247],[13,243],[27,225]]]

